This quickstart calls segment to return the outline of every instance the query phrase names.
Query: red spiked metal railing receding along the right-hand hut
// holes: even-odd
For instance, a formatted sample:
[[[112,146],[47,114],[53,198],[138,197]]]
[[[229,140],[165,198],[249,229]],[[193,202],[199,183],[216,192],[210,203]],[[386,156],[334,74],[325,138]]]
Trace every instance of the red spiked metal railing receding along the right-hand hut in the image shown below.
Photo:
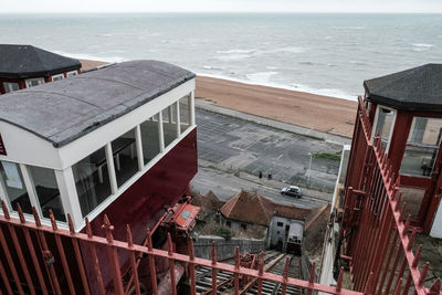
[[[417,232],[410,226],[411,217],[404,215],[407,203],[401,203],[399,176],[392,172],[379,136],[372,144],[370,134],[368,113],[359,98],[350,165],[356,166],[355,158],[362,155],[364,162],[358,188],[346,190],[343,223],[343,235],[350,236],[345,257],[350,261],[354,289],[370,294],[440,294],[439,280],[429,288],[424,286],[429,263],[419,265],[422,245],[413,252]]]

